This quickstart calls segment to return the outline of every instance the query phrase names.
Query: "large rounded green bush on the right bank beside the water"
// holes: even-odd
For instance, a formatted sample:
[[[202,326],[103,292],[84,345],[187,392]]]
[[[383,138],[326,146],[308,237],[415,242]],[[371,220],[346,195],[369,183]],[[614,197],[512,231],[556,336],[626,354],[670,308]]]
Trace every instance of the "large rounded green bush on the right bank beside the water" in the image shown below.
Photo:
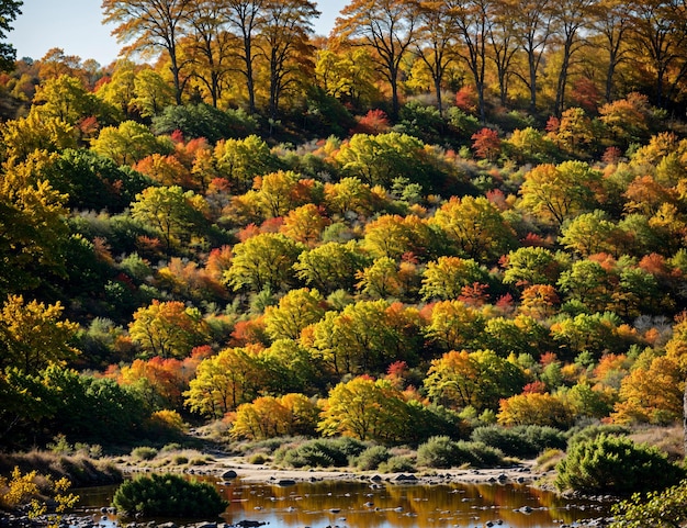
[[[663,490],[685,478],[658,449],[605,434],[573,443],[556,471],[559,490],[615,495]]]

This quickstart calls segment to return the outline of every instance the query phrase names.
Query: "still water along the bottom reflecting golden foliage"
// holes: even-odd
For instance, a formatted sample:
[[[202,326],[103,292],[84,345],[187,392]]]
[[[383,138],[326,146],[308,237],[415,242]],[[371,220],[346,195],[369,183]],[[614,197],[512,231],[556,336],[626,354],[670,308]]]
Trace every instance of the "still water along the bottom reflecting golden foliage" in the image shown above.
[[[609,504],[567,499],[521,484],[314,482],[216,483],[229,501],[223,518],[269,523],[269,528],[553,528],[608,515]],[[82,507],[108,506],[114,488],[78,492]],[[102,525],[113,526],[112,518]]]

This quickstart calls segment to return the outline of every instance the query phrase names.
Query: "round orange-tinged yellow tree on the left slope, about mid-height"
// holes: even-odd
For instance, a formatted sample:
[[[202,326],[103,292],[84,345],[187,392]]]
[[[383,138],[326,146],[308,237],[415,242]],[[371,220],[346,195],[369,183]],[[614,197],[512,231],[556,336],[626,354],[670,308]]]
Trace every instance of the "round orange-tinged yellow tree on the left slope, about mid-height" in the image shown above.
[[[198,308],[187,307],[180,301],[153,301],[138,308],[128,325],[134,342],[148,357],[184,358],[191,349],[209,337],[207,324]]]

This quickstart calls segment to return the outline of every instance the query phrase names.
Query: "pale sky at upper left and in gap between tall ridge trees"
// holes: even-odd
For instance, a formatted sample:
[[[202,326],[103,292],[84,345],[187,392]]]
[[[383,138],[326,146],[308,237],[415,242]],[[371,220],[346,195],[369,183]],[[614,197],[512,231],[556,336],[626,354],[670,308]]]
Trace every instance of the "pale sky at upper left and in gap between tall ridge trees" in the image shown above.
[[[315,33],[327,35],[348,0],[315,3],[322,11]],[[65,55],[77,55],[82,60],[93,58],[108,66],[122,46],[110,35],[112,26],[102,25],[100,5],[101,0],[24,0],[8,42],[16,49],[16,58],[40,59],[48,49],[58,47]]]

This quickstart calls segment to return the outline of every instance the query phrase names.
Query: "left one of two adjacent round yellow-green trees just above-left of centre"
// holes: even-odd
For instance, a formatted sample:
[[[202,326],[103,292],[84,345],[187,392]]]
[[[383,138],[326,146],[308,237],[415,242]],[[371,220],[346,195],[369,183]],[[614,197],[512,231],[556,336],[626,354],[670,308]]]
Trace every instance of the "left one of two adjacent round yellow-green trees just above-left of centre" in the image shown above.
[[[234,246],[232,267],[224,280],[235,291],[248,288],[259,292],[266,287],[279,291],[293,279],[293,265],[302,246],[278,233],[262,233]]]

